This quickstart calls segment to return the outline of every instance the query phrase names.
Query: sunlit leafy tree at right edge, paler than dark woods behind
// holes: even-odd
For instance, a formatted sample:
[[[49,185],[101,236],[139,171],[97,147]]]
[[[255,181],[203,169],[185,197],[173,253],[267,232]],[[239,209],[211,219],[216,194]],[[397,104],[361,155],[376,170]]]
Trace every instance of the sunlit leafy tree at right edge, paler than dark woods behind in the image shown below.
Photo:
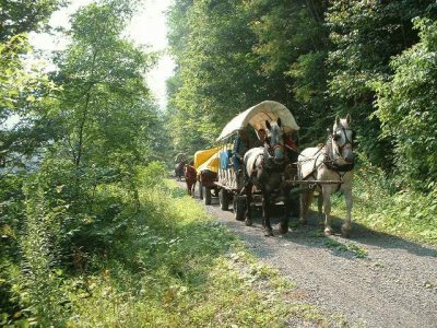
[[[433,190],[437,179],[437,23],[414,20],[421,40],[391,61],[390,81],[377,85],[376,115],[394,143],[400,185]]]

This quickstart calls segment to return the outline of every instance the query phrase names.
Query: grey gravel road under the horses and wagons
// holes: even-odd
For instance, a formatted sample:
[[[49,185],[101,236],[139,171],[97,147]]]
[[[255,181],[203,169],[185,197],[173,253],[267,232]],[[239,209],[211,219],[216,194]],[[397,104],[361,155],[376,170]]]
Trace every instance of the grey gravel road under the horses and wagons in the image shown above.
[[[253,225],[246,226],[232,212],[222,211],[214,198],[205,208],[262,261],[292,280],[293,297],[303,303],[342,315],[352,327],[437,327],[436,247],[376,233],[358,223],[349,239],[326,237],[315,213],[307,226],[297,226],[295,218],[291,222],[295,227],[285,236],[276,227],[274,237],[264,237],[261,211]],[[340,221],[334,222],[340,232]]]

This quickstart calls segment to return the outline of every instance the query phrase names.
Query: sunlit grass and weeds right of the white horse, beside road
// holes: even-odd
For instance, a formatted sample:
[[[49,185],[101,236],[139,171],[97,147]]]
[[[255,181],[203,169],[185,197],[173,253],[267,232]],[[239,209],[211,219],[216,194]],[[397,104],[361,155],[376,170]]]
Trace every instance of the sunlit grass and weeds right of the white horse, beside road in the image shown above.
[[[425,196],[412,190],[392,194],[387,177],[373,166],[355,172],[353,222],[421,244],[437,245],[437,189]],[[345,215],[341,195],[333,197],[332,214]]]

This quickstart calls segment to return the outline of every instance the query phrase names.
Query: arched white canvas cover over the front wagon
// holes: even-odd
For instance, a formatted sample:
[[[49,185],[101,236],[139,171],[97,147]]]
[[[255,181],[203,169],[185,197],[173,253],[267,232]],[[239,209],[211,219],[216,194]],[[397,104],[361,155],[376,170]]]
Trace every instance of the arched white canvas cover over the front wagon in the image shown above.
[[[226,139],[236,131],[246,128],[247,125],[252,126],[257,131],[261,128],[265,129],[265,120],[277,120],[277,118],[281,118],[282,127],[285,132],[297,131],[299,129],[292,112],[290,112],[287,107],[277,102],[264,101],[234,117],[224,127],[217,140]]]

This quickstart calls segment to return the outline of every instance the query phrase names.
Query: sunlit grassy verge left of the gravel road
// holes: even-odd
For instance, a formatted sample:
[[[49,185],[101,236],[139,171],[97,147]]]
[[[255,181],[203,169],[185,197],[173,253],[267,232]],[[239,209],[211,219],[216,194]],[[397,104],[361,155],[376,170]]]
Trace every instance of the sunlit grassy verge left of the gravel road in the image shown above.
[[[141,195],[116,251],[66,282],[67,327],[346,327],[302,304],[294,285],[258,261],[173,181]]]

